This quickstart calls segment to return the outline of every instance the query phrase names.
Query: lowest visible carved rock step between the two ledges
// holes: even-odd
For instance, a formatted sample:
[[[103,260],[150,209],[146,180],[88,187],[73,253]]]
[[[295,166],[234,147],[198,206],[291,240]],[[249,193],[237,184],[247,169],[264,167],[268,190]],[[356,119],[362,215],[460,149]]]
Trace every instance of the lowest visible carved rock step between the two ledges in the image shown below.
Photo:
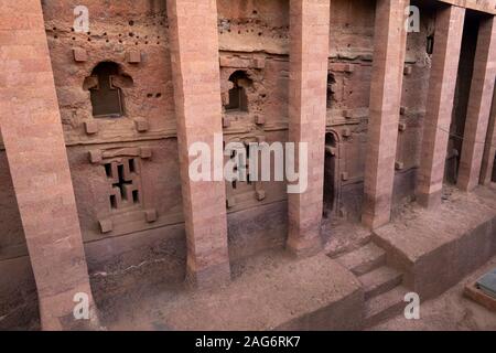
[[[408,289],[399,286],[365,302],[365,327],[370,328],[379,322],[400,314],[407,307],[405,295]]]

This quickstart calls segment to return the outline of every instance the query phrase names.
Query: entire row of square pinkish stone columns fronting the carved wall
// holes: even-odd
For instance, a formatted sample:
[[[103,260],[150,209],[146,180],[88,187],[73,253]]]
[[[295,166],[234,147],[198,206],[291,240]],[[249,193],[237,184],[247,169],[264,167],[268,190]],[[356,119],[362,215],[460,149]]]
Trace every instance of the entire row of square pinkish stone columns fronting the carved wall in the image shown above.
[[[290,142],[308,143],[308,189],[289,196],[288,248],[309,255],[322,246],[326,76],[331,0],[290,1]],[[389,222],[398,137],[409,0],[377,0],[363,220]],[[73,299],[90,288],[64,136],[39,0],[0,0],[0,127],[39,289],[44,329],[72,322]],[[7,15],[6,15],[7,13]],[[22,13],[13,17],[13,13]],[[168,0],[187,278],[197,287],[230,278],[223,181],[193,182],[188,147],[202,141],[220,153],[216,0]],[[464,9],[446,7],[436,22],[419,200],[438,203],[448,146]],[[479,30],[460,184],[478,182],[493,96],[494,18]],[[9,75],[6,76],[6,73]],[[302,165],[296,156],[296,167]],[[223,168],[212,165],[212,174]]]

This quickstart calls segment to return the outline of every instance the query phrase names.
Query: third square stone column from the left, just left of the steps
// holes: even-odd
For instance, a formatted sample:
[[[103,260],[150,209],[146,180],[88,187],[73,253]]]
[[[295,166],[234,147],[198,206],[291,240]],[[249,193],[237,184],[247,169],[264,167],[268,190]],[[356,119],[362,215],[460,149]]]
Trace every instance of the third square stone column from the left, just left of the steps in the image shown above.
[[[308,188],[289,195],[288,248],[306,256],[321,246],[324,190],[330,0],[290,1],[289,141],[308,143]],[[301,176],[300,176],[301,178]]]

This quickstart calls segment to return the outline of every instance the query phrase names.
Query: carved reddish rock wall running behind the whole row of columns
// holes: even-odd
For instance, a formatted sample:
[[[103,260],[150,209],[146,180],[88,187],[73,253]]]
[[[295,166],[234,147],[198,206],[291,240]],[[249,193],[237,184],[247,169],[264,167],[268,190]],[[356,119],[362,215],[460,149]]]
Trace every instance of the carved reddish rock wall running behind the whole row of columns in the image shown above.
[[[185,269],[185,238],[165,1],[125,0],[109,4],[104,0],[88,0],[85,3],[90,11],[90,34],[71,30],[74,20],[71,9],[78,1],[44,1],[43,10],[88,265],[94,286],[101,290],[101,295],[97,290],[98,298],[104,291],[121,290],[137,279],[181,280]],[[285,0],[217,1],[222,92],[228,90],[228,78],[235,71],[245,71],[252,81],[248,111],[224,111],[225,120],[229,121],[224,129],[226,141],[287,139],[288,3]],[[334,82],[330,82],[327,130],[339,140],[336,180],[341,201],[335,211],[352,220],[358,218],[362,205],[374,11],[375,4],[368,0],[333,0],[331,6],[328,71]],[[397,173],[397,202],[412,195],[419,162],[430,73],[425,40],[432,32],[434,12],[425,8],[421,13],[421,33],[408,38],[407,66],[411,72],[403,81],[406,109],[401,121],[406,129],[398,141],[402,170]],[[87,60],[75,62],[73,49],[86,51]],[[131,51],[141,52],[140,63],[128,63]],[[132,85],[122,88],[126,116],[94,119],[89,92],[84,88],[85,77],[97,63],[109,60],[132,77]],[[148,129],[140,132],[136,124],[141,119],[148,121]],[[93,127],[96,122],[97,131],[88,135],[85,122],[91,122]],[[109,207],[105,169],[90,163],[88,153],[121,148],[147,148],[152,151],[152,158],[140,162],[143,199],[139,212],[115,215]],[[0,265],[9,268],[6,259],[25,255],[25,250],[6,168],[4,151],[0,151]],[[258,197],[252,186],[233,190],[226,185],[228,197],[236,200],[228,208],[231,260],[283,245],[284,185],[268,183],[262,189],[265,197]],[[155,210],[157,221],[147,222],[142,215],[145,210]],[[99,221],[109,218],[114,218],[115,226],[104,234]],[[129,269],[141,264],[144,265],[139,269]],[[29,278],[29,271],[21,277]]]

